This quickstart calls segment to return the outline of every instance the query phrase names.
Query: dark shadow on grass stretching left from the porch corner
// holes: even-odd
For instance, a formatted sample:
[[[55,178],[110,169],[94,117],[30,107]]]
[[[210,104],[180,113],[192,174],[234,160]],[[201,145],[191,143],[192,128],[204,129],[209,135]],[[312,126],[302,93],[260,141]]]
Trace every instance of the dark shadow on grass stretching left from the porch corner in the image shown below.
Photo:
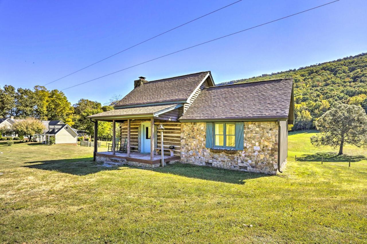
[[[98,173],[103,170],[117,170],[118,166],[105,167],[100,162],[92,161],[93,158],[76,158],[76,159],[60,159],[60,160],[44,160],[26,162],[26,164],[37,163],[33,165],[23,166],[29,169],[41,169],[58,171],[61,173],[73,175],[88,175]]]

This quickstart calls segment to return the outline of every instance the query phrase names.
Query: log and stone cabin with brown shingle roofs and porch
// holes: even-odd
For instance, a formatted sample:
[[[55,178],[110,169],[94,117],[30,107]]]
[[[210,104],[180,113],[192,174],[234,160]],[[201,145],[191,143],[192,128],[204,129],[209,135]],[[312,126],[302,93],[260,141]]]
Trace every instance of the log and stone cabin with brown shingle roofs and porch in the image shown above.
[[[165,162],[276,174],[287,161],[293,80],[215,86],[210,71],[149,82],[139,77],[114,108],[87,118],[95,123],[95,137],[97,121],[110,121],[113,127],[120,123],[127,152],[94,147],[97,161],[160,166],[155,154],[161,148],[157,126],[162,124]]]

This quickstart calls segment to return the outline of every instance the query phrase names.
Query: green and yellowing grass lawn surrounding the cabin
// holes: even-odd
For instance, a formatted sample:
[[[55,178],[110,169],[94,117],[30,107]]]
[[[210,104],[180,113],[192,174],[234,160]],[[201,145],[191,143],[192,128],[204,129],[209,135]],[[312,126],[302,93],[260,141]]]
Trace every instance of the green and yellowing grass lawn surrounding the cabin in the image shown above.
[[[88,147],[0,142],[0,242],[366,243],[367,151],[335,157],[313,133],[289,136],[278,176],[105,167]]]

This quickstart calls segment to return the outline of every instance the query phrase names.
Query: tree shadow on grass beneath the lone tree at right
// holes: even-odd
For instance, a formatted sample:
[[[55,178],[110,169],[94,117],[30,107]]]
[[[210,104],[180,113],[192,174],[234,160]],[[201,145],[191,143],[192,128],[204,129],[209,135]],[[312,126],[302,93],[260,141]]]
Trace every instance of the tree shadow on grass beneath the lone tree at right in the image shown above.
[[[336,152],[318,152],[316,154],[304,154],[302,157],[297,158],[297,161],[301,162],[317,162],[323,157],[324,162],[358,162],[367,159],[363,155],[352,156],[352,155],[338,155]]]

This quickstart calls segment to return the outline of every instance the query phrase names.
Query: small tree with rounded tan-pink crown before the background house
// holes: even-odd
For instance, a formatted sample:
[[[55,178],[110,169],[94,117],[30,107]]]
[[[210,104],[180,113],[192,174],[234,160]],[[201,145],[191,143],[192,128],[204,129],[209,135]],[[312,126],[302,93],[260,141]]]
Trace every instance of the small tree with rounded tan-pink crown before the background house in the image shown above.
[[[41,134],[45,129],[43,123],[35,118],[17,121],[12,125],[12,130],[20,135],[28,136],[29,140],[32,140],[33,134]]]

